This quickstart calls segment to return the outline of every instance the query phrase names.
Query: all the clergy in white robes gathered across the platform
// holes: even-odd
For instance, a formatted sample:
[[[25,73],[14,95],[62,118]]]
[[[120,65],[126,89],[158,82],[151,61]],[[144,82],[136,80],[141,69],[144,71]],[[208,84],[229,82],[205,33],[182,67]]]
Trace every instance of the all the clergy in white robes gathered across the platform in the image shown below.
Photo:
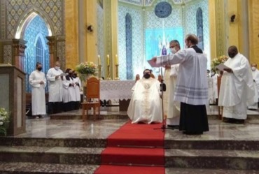
[[[132,124],[162,122],[168,129],[179,129],[191,135],[209,131],[207,78],[213,78],[216,84],[219,75],[216,70],[207,70],[207,56],[197,43],[197,36],[188,34],[184,49],[180,48],[179,41],[173,40],[169,43],[169,55],[151,59],[157,67],[165,67],[164,78],[160,75],[155,79],[150,69],[144,70],[142,77],[136,75],[127,110]],[[247,108],[258,110],[259,71],[257,64],[250,66],[235,45],[228,48],[228,56],[224,68],[218,68],[221,86],[219,94],[215,92],[216,103],[223,106],[224,122],[244,124]],[[42,64],[37,63],[36,70],[29,76],[32,115],[35,117],[46,113],[47,80],[49,113],[76,110],[80,106],[80,79],[75,71],[68,68],[63,73],[59,66],[57,61],[45,78]]]

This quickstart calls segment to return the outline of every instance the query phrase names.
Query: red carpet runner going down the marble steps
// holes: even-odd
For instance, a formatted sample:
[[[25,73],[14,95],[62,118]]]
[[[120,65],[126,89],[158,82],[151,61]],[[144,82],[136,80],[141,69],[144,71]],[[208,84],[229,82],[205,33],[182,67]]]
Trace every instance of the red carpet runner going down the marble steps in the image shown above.
[[[165,174],[165,133],[161,127],[162,124],[124,124],[109,136],[102,165],[94,174]]]

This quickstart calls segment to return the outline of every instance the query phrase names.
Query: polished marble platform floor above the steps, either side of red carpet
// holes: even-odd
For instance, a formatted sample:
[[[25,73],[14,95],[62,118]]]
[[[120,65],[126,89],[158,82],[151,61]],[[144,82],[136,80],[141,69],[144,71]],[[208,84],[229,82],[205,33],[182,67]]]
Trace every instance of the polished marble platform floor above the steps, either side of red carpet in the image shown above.
[[[178,130],[166,130],[165,138],[169,140],[202,139],[202,140],[259,140],[259,112],[248,110],[248,119],[245,124],[230,124],[222,122],[216,117],[218,108],[207,108],[209,117],[209,131],[199,136],[183,135]],[[127,115],[119,112],[118,107],[102,108],[101,115]],[[81,115],[81,110],[74,110],[57,115]],[[27,119],[27,132],[17,137],[37,138],[107,138],[128,119],[50,119],[45,115],[43,119]]]

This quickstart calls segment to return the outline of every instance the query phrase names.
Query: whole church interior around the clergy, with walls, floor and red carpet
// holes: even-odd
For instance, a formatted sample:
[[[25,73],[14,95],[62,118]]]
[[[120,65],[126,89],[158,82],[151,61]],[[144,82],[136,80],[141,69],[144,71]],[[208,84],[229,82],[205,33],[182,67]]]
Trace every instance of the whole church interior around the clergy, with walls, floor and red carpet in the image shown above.
[[[254,0],[1,0],[0,108],[10,124],[0,136],[0,173],[259,173],[258,109],[247,110],[244,124],[223,122],[209,79],[202,135],[163,123],[136,129],[127,115],[136,75],[152,69],[158,78],[164,70],[148,60],[163,48],[169,54],[172,40],[184,49],[186,34],[199,38],[209,70],[231,45],[259,64],[258,9]],[[31,117],[29,75],[36,62],[47,74],[56,61],[64,72],[96,65],[100,112],[85,117],[81,106]],[[86,87],[83,79],[82,102]],[[45,100],[48,111],[48,86]]]

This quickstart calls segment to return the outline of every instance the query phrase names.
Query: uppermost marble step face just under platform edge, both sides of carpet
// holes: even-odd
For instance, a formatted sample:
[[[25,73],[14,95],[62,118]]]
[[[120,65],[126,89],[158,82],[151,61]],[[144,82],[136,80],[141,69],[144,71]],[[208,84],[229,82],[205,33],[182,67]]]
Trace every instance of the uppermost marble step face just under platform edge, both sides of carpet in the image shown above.
[[[177,137],[176,137],[177,138]],[[259,150],[259,140],[208,140],[165,139],[165,147],[169,149],[196,150]],[[0,137],[0,145],[43,146],[43,147],[101,147],[107,146],[106,138],[27,138]],[[122,146],[123,147],[123,146]]]

